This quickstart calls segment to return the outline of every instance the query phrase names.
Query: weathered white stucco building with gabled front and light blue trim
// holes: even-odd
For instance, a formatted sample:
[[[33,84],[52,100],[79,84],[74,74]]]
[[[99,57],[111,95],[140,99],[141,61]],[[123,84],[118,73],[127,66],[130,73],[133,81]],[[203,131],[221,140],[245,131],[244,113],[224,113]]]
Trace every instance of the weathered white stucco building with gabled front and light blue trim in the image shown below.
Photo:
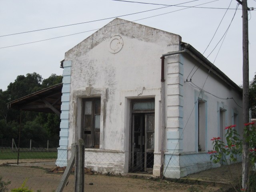
[[[242,130],[240,88],[179,35],[116,18],[62,64],[57,165],[83,138],[95,171],[180,178],[219,166],[210,139]]]

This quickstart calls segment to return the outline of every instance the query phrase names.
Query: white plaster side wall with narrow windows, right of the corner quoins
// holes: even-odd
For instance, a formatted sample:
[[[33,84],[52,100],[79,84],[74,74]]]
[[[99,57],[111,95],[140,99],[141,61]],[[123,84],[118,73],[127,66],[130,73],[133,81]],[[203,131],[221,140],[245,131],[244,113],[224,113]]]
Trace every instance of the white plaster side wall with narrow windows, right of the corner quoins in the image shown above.
[[[189,56],[182,54],[180,55],[180,61],[184,63],[184,82],[194,65],[196,64],[195,69],[199,66],[195,60],[189,58]],[[195,70],[194,69],[194,70]],[[193,71],[194,72],[194,71]],[[192,73],[193,73],[192,72]],[[199,86],[203,87],[204,82],[207,78],[208,70],[201,66],[197,72],[192,77],[192,82]],[[190,80],[190,77],[188,78]],[[220,98],[234,98],[239,106],[242,106],[242,94],[239,94],[237,90],[228,86],[225,82],[220,80],[217,76],[210,73],[206,83],[203,88],[205,91],[214,94]],[[184,83],[184,125],[188,121],[188,124],[184,131],[184,148],[183,152],[197,152],[197,148],[194,145],[195,143],[195,92],[200,92],[198,88],[194,88],[188,82]],[[219,131],[219,107],[222,107],[226,110],[226,126],[232,125],[232,118],[234,118],[234,110],[238,113],[238,124],[237,129],[240,133],[243,128],[242,123],[242,108],[240,108],[234,100],[222,100],[216,98],[215,96],[209,93],[203,92],[203,97],[207,100],[207,136],[206,136],[206,145],[207,151],[212,150],[212,141],[210,140],[213,137],[220,136]],[[223,103],[222,103],[223,102]],[[193,110],[193,112],[192,112]],[[191,116],[190,113],[192,112]],[[189,118],[190,116],[190,118]],[[189,118],[189,120],[188,120]],[[225,134],[225,132],[224,132]]]

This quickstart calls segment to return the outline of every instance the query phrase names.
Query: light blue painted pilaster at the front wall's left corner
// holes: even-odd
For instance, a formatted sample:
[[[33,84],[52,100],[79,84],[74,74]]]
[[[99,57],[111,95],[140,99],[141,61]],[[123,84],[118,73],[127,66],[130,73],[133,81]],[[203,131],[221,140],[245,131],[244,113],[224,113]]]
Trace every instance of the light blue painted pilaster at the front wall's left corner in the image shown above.
[[[63,167],[67,166],[67,148],[68,148],[68,114],[69,114],[69,98],[70,98],[70,83],[71,83],[71,61],[63,62],[63,87],[61,97],[61,114],[60,114],[60,147],[58,148],[58,159],[56,165]]]

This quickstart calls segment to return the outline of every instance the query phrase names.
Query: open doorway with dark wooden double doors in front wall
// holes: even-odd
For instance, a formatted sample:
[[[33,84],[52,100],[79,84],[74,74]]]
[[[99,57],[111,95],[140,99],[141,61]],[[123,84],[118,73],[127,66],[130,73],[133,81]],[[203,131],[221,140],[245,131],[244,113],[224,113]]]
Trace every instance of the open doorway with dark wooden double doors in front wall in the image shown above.
[[[130,172],[152,173],[154,166],[154,100],[132,102]]]

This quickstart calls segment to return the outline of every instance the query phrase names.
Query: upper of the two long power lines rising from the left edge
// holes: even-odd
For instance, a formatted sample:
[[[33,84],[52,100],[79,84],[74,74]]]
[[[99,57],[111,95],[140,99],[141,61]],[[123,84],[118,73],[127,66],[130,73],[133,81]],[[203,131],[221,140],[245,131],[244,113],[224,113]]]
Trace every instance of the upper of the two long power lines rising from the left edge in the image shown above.
[[[176,4],[176,5],[186,4],[186,3],[190,3],[190,2],[194,2],[194,1],[198,1],[198,0],[193,0],[193,1],[189,1],[189,2],[184,2],[184,3],[180,3],[180,4]],[[19,32],[19,33],[7,34],[7,35],[2,35],[2,36],[0,36],[0,37],[11,36],[11,35],[17,35],[17,34],[23,34],[23,33],[30,33],[30,32],[36,32],[36,31],[42,31],[42,30],[48,30],[48,29],[54,29],[54,28],[61,28],[61,27],[67,27],[67,26],[73,26],[73,25],[79,25],[79,24],[85,24],[85,23],[91,23],[91,22],[96,22],[96,21],[102,21],[102,20],[107,20],[107,19],[113,19],[113,18],[116,18],[116,17],[124,17],[124,16],[129,16],[129,15],[134,15],[134,14],[149,12],[149,11],[153,11],[153,10],[168,8],[168,7],[176,6],[176,5],[168,5],[168,6],[166,6],[166,7],[155,8],[155,9],[151,9],[151,10],[140,11],[140,12],[136,12],[136,13],[130,13],[130,14],[125,14],[125,15],[120,15],[120,16],[114,16],[114,17],[109,17],[109,18],[103,18],[103,19],[98,19],[98,20],[93,20],[93,21],[86,21],[86,22],[75,23],[75,24],[68,24],[68,25],[62,25],[62,26],[56,26],[56,27],[50,27],[50,28],[44,28],[44,29],[38,29],[38,30],[32,30],[32,31],[26,31],[26,32]]]

